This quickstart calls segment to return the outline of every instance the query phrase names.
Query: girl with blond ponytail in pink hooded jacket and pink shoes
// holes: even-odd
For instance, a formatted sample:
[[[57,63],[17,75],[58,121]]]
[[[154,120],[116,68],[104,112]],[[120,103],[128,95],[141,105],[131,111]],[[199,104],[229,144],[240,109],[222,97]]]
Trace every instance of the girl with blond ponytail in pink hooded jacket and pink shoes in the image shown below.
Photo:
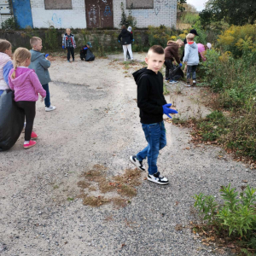
[[[38,93],[44,101],[46,91],[40,84],[37,74],[29,69],[31,53],[26,48],[18,48],[14,53],[15,67],[9,73],[9,87],[15,91],[15,102],[19,108],[24,109],[26,117],[24,148],[31,148],[37,143],[32,141],[38,135],[32,131],[33,122],[36,116],[36,102]]]

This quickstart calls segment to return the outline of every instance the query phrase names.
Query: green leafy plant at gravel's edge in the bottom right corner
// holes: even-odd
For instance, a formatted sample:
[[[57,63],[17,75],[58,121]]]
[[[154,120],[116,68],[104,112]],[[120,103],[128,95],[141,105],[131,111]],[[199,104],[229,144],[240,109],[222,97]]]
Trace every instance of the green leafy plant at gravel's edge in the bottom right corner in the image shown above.
[[[194,207],[207,225],[214,225],[218,234],[228,233],[242,245],[256,247],[256,189],[247,186],[241,193],[231,189],[230,184],[220,189],[224,204],[219,205],[212,195],[195,195]]]

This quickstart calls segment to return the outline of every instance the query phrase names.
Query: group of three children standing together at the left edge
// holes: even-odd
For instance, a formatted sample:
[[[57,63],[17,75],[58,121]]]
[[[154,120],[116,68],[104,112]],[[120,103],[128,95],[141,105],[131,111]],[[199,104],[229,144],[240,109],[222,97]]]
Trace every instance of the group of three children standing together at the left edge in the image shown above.
[[[0,39],[0,96],[4,90],[13,90],[15,103],[25,113],[25,142],[23,147],[31,148],[36,145],[34,139],[38,135],[32,131],[36,115],[38,94],[42,96],[45,111],[55,110],[50,104],[48,55],[41,53],[42,39],[33,37],[30,40],[31,50],[17,48],[11,60],[12,45],[7,40]]]

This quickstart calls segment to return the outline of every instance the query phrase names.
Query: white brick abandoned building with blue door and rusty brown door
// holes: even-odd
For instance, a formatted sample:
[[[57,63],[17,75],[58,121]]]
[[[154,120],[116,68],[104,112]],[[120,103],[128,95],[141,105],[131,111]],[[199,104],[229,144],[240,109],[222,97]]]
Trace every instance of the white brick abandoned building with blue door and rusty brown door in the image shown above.
[[[125,14],[137,27],[176,26],[177,0],[0,0],[0,25],[11,15],[20,28],[119,28],[123,3]]]

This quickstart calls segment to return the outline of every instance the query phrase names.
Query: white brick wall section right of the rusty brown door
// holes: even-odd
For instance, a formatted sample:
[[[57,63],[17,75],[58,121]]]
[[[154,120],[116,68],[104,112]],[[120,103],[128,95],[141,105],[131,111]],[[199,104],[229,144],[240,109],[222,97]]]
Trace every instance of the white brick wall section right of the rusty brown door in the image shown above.
[[[121,3],[125,0],[113,0],[113,26],[119,27],[121,20]],[[125,6],[125,13],[128,15]],[[154,9],[133,9],[132,16],[136,17],[137,27],[151,26],[176,26],[177,0],[154,0]]]

